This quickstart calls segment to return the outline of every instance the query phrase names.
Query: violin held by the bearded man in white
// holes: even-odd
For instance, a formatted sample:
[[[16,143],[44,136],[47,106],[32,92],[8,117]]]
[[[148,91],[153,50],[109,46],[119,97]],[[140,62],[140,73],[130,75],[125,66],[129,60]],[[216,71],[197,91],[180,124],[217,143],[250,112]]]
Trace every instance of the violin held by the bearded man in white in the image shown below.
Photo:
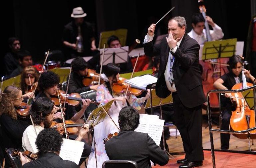
[[[84,124],[75,124],[71,120],[66,120],[65,121],[65,126],[66,126],[67,133],[70,134],[70,135],[74,135],[78,131],[77,127],[82,127],[83,125]],[[57,131],[61,135],[65,134],[63,123],[57,123],[57,122],[53,121],[52,124],[51,124],[51,128],[56,128]]]

